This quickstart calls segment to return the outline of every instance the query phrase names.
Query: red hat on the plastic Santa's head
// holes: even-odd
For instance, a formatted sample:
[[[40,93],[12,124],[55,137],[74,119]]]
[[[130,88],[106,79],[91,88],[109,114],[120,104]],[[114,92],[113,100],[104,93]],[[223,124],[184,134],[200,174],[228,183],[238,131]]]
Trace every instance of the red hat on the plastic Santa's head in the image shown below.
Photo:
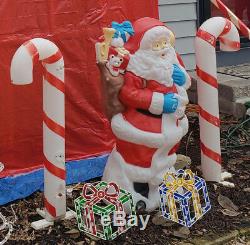
[[[144,17],[141,19],[136,20],[133,23],[133,28],[135,31],[134,36],[130,37],[129,41],[125,44],[125,48],[131,53],[134,54],[139,48],[142,38],[144,37],[144,34],[157,26],[164,26],[164,23],[161,21],[150,18],[150,17]],[[166,27],[167,28],[167,27]]]

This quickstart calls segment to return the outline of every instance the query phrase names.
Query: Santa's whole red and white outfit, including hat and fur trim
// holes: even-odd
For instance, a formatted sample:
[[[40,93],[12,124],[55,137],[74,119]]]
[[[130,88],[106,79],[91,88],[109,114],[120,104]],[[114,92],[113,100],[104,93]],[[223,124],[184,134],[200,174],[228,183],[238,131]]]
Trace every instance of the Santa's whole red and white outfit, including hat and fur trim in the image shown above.
[[[144,34],[158,26],[163,27],[163,23],[152,18],[142,18],[133,24],[135,35],[126,45],[131,58],[137,50],[147,50],[147,45],[142,41]],[[166,30],[164,29],[164,34]],[[159,31],[161,29],[157,30]],[[132,193],[135,202],[142,200],[146,203],[146,209],[152,210],[159,205],[158,185],[167,170],[174,171],[175,152],[188,130],[186,116],[178,119],[174,113],[163,113],[164,95],[187,95],[185,88],[173,82],[169,86],[145,79],[132,70],[128,66],[119,94],[126,110],[111,120],[111,128],[117,139],[116,146],[109,156],[103,180],[115,181]],[[186,84],[189,84],[187,74],[186,79]],[[135,191],[135,182],[148,183],[147,197]]]

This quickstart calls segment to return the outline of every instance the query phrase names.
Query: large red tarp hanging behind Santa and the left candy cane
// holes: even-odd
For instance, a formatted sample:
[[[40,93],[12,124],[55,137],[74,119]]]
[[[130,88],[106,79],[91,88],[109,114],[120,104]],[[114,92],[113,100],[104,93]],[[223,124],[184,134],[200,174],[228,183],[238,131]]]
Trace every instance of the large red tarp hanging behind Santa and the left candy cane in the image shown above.
[[[16,49],[34,37],[53,41],[65,62],[66,159],[110,151],[109,122],[94,43],[111,21],[158,17],[157,0],[1,0],[0,1],[0,177],[41,167],[42,72],[34,83],[12,85],[10,64]]]

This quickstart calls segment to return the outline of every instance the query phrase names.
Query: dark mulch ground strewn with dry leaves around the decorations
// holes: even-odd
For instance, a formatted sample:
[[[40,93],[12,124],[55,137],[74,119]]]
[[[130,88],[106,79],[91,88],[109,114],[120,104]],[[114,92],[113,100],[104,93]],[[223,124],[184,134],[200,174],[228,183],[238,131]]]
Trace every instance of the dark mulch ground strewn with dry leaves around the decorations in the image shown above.
[[[188,117],[189,133],[183,139],[179,153],[192,159],[191,169],[201,176],[199,122],[195,106],[189,107]],[[155,211],[150,213],[151,218],[144,231],[133,227],[112,242],[91,240],[78,231],[75,219],[56,223],[53,227],[42,231],[35,231],[30,223],[40,219],[35,210],[43,205],[42,193],[37,192],[28,198],[0,207],[0,212],[8,220],[13,221],[14,230],[7,244],[188,244],[206,235],[222,235],[242,227],[249,228],[250,132],[247,130],[250,129],[250,124],[247,129],[245,125],[245,129],[240,128],[230,135],[231,127],[235,128],[239,121],[225,115],[221,115],[221,119],[223,167],[233,174],[230,182],[233,182],[235,187],[207,183],[212,210],[190,229],[181,229],[178,224],[162,220],[159,211]],[[227,144],[226,139],[228,139]],[[74,209],[73,199],[77,195],[78,192],[73,192],[73,196],[67,198],[69,208]],[[0,231],[0,242],[6,234],[7,230]],[[241,236],[225,244],[247,244],[248,241],[249,237]]]

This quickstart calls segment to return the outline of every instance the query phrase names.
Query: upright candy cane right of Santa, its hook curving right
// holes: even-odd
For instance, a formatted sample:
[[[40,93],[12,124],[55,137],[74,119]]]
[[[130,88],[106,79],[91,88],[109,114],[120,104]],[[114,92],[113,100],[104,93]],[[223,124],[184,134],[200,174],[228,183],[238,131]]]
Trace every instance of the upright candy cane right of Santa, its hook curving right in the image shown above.
[[[221,148],[218,103],[218,81],[216,71],[216,40],[223,51],[240,49],[240,38],[236,27],[223,17],[213,17],[199,28],[195,39],[196,71],[200,107],[201,168],[208,181],[220,182]]]

